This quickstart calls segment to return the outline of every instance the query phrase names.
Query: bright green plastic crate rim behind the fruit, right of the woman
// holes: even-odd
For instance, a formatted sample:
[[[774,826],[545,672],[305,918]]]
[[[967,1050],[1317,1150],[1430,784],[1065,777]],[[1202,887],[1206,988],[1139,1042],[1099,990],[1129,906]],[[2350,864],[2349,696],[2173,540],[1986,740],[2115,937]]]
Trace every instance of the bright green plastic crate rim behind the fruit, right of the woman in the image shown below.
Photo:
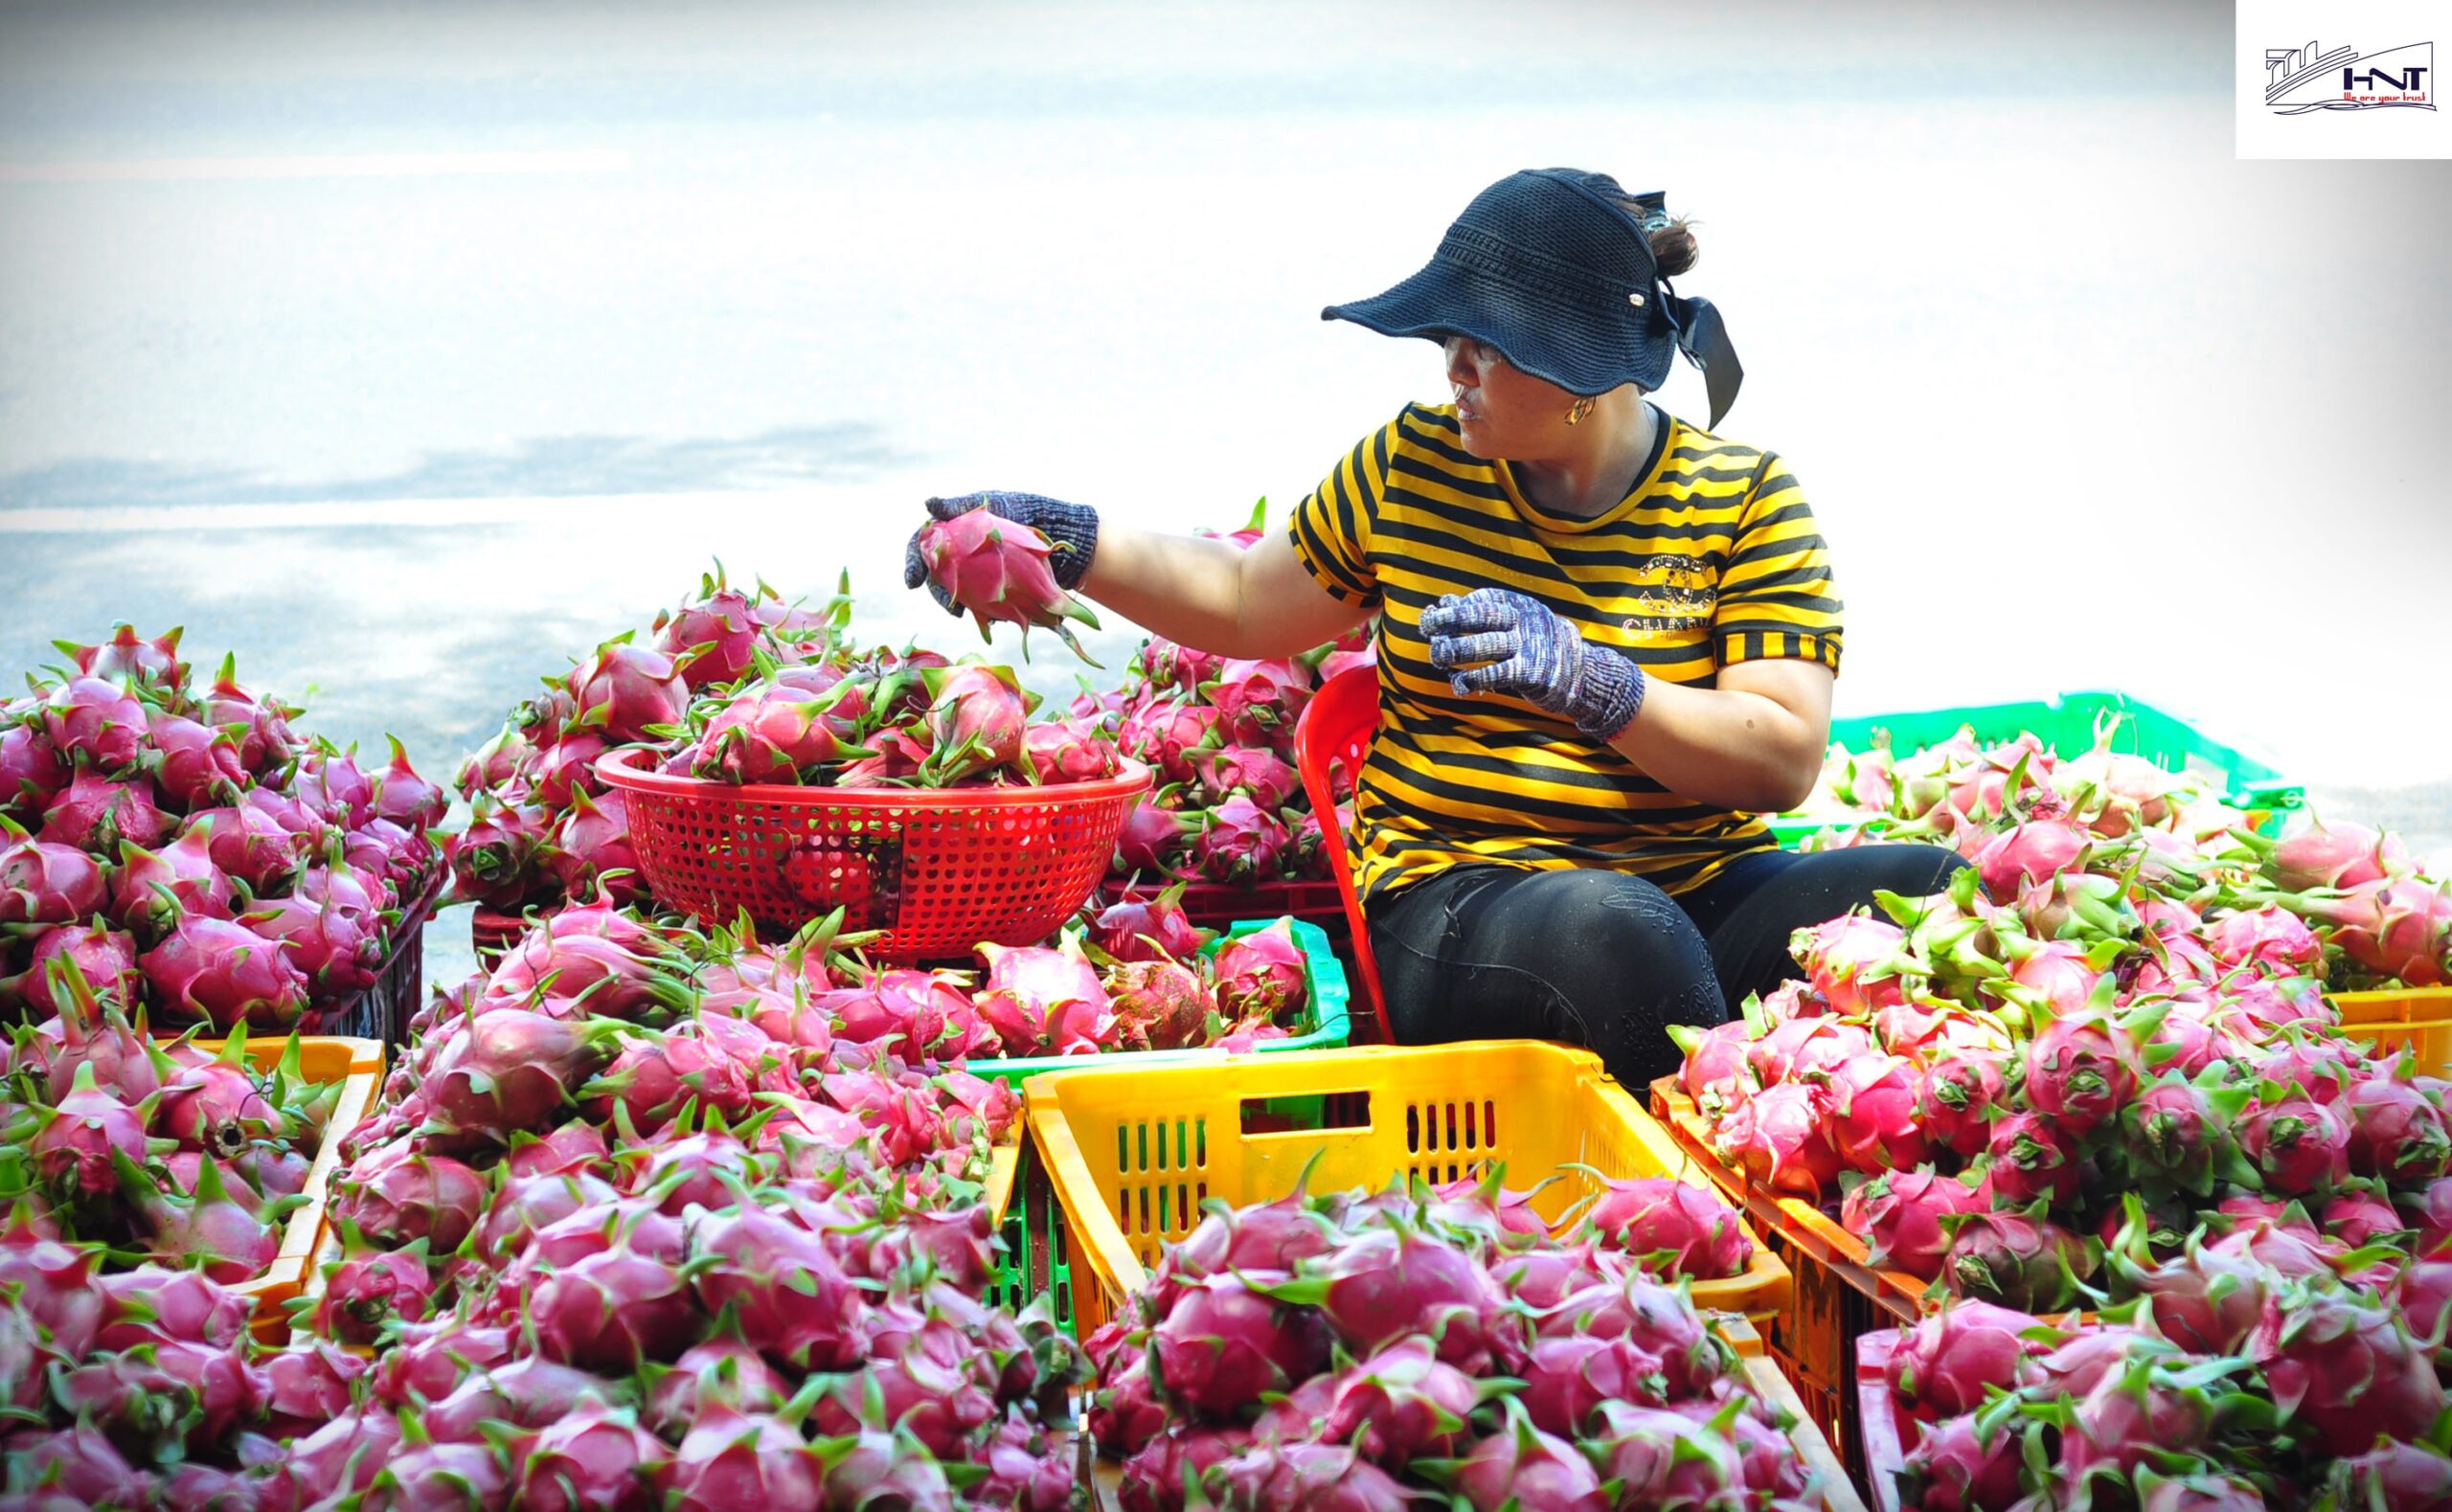
[[[1849,750],[1873,745],[1876,730],[1890,733],[1898,755],[1940,745],[1971,725],[1976,740],[1998,745],[2016,740],[2020,730],[2033,730],[2055,752],[2072,757],[2094,750],[2094,725],[2101,716],[2119,713],[2111,730],[2111,750],[2141,755],[2168,772],[2195,772],[2222,787],[2224,799],[2239,809],[2263,811],[2266,828],[2275,831],[2280,816],[2305,804],[2307,792],[2268,767],[2263,760],[2224,745],[2199,733],[2187,720],[2170,716],[2143,698],[2111,691],[2060,694],[2050,701],[2030,703],[1976,703],[1969,708],[1922,708],[1908,713],[1876,713],[1866,718],[1832,720],[1832,740]],[[1780,814],[1770,831],[1780,845],[1797,845],[1807,836],[1827,828],[1846,828],[1846,816]]]

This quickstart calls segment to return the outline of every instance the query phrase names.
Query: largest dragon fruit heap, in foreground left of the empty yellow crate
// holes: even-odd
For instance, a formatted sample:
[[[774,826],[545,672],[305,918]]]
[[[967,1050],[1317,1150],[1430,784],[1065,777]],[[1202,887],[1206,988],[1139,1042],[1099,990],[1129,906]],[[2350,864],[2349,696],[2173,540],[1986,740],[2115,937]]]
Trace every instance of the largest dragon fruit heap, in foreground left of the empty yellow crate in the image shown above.
[[[959,1056],[1000,1039],[834,946],[831,921],[760,946],[598,899],[419,1015],[304,1311],[380,1345],[297,1446],[316,1495],[1069,1505],[1045,1424],[1079,1350],[981,1301],[1018,1103]]]

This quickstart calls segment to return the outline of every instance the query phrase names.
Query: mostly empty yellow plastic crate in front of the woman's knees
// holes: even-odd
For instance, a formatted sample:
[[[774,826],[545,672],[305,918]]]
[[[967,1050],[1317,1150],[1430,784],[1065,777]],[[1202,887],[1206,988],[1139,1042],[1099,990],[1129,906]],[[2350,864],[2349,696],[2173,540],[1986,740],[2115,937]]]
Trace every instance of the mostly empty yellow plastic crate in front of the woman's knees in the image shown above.
[[[1439,1184],[1491,1164],[1513,1186],[1559,1174],[1535,1198],[1552,1223],[1599,1191],[1559,1166],[1618,1179],[1685,1176],[1687,1166],[1599,1056],[1530,1039],[1054,1071],[1032,1078],[1025,1098],[1030,1140],[1064,1208],[1084,1338],[1143,1284],[1162,1245],[1192,1233],[1201,1201],[1275,1201],[1314,1157],[1314,1191],[1376,1191],[1398,1176]],[[1753,1318],[1788,1306],[1788,1267],[1748,1235],[1746,1274],[1694,1282],[1694,1306]]]

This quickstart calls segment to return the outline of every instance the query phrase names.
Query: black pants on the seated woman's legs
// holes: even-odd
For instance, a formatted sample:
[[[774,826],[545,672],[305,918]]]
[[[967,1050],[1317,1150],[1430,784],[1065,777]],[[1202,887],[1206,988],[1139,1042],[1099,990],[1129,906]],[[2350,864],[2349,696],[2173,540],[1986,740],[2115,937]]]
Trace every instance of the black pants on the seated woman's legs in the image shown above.
[[[1640,1088],[1682,1059],[1667,1024],[1719,1024],[1802,975],[1797,929],[1876,890],[1940,892],[1962,865],[1942,845],[1756,850],[1682,897],[1621,872],[1459,865],[1376,902],[1371,951],[1398,1041],[1564,1039]]]

